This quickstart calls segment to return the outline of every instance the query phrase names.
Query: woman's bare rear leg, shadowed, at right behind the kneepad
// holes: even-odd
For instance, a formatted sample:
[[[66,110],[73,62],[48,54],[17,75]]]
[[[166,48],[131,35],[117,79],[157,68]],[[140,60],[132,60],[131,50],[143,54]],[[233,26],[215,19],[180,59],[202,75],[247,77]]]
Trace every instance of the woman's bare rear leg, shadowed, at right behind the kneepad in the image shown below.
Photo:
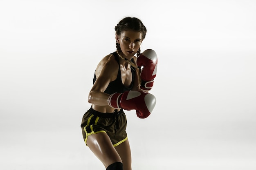
[[[116,146],[115,149],[123,161],[124,170],[132,170],[132,156],[128,139]]]

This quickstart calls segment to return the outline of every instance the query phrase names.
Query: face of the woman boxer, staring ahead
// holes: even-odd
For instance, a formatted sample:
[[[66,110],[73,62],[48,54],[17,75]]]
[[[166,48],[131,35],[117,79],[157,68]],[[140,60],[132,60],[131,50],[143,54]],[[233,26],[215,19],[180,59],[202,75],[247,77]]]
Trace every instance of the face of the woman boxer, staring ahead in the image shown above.
[[[120,44],[121,50],[126,57],[135,55],[142,42],[142,33],[138,31],[123,31],[116,35],[117,43]]]

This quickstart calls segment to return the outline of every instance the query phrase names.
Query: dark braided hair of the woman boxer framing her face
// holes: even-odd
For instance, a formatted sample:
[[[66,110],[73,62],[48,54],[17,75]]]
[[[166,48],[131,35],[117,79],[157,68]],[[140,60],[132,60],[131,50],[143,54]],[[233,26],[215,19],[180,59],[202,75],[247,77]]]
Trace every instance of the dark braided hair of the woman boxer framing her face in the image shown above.
[[[138,18],[126,17],[126,18],[122,19],[121,21],[119,21],[117,26],[115,26],[115,31],[116,31],[117,35],[120,35],[121,32],[128,31],[128,30],[141,32],[142,40],[144,40],[144,38],[146,37],[147,29],[144,26],[144,24],[141,22],[141,20],[139,20]],[[121,51],[121,47],[120,47],[119,43],[116,43],[116,47],[117,47],[117,52],[121,53],[122,51]],[[140,48],[139,48],[139,50],[137,51],[137,57],[140,55],[140,53],[141,52],[140,52]],[[126,62],[129,63],[129,60],[126,60]]]

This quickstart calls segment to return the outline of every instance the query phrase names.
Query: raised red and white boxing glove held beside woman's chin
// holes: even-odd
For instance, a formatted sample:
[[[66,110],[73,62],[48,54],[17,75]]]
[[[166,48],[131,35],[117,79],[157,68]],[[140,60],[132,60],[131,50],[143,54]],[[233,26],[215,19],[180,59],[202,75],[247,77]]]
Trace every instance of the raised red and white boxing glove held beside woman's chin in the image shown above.
[[[137,58],[137,65],[141,69],[141,90],[149,91],[153,87],[154,78],[157,74],[157,54],[152,49],[147,49]]]

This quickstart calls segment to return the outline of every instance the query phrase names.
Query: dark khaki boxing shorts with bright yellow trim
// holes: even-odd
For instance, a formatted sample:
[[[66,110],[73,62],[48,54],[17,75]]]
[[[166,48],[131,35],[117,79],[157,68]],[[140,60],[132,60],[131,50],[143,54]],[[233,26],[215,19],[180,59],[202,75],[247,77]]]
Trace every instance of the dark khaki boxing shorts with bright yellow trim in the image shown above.
[[[118,146],[127,140],[127,119],[124,111],[114,113],[101,113],[91,107],[84,115],[81,123],[83,139],[87,141],[88,136],[96,133],[106,133],[113,146]]]

